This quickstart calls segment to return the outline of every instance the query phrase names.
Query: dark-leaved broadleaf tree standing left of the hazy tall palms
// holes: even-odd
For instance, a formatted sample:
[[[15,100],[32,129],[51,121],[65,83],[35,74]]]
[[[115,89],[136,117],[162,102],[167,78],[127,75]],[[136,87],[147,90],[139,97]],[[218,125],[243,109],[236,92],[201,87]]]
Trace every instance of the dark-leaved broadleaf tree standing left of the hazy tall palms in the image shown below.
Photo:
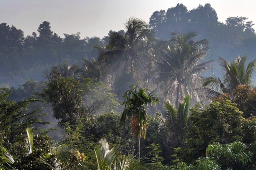
[[[88,115],[88,108],[84,106],[82,94],[83,84],[74,77],[61,77],[60,70],[53,69],[45,73],[47,81],[44,94],[48,96],[48,102],[52,104],[53,117],[60,119],[58,125],[70,121],[75,124],[79,118]]]

